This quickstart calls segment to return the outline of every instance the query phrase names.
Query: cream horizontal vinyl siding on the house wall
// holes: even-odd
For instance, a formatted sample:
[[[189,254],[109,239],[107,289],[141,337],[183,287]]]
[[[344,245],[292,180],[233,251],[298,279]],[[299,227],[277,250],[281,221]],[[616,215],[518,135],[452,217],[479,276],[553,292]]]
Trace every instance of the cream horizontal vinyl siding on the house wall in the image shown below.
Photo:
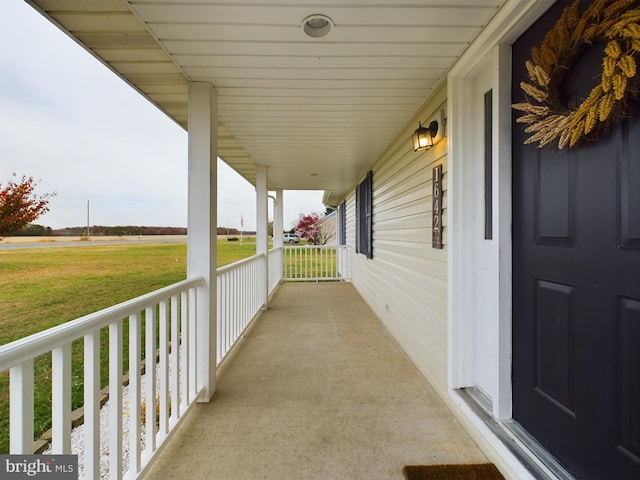
[[[352,281],[440,394],[447,388],[446,138],[414,152],[411,133],[445,108],[442,86],[373,170],[373,259],[353,256]],[[440,126],[444,128],[444,126]],[[443,165],[442,250],[431,246],[433,167]],[[347,198],[347,244],[355,245],[354,195]]]

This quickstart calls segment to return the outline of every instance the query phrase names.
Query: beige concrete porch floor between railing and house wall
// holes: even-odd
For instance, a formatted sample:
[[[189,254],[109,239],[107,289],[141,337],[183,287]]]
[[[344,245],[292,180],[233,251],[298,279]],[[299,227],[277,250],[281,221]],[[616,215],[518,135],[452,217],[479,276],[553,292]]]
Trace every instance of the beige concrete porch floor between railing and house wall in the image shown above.
[[[349,283],[287,283],[147,479],[402,479],[480,452]]]

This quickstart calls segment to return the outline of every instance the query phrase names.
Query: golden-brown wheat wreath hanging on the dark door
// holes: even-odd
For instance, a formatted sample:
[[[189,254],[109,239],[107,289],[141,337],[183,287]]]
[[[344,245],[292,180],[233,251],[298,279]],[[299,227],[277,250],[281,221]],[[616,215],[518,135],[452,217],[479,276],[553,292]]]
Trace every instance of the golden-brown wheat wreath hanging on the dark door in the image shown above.
[[[580,0],[575,0],[540,47],[532,48],[526,62],[529,81],[520,83],[526,101],[513,105],[524,112],[516,121],[528,124],[524,131],[532,134],[525,143],[573,147],[581,139],[600,138],[628,116],[630,100],[640,93],[639,4],[596,0],[580,15]],[[600,83],[576,108],[568,108],[559,98],[562,81],[581,52],[599,42],[606,42]]]

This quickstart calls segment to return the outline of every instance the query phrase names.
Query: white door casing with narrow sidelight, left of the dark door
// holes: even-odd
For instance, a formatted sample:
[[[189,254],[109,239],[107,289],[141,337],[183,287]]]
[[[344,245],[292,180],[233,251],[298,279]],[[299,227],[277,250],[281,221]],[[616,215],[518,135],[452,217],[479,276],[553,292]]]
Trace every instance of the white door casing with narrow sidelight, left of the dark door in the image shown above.
[[[553,2],[507,3],[448,77],[449,388],[511,418],[511,48]],[[492,240],[484,239],[484,93],[493,92]]]

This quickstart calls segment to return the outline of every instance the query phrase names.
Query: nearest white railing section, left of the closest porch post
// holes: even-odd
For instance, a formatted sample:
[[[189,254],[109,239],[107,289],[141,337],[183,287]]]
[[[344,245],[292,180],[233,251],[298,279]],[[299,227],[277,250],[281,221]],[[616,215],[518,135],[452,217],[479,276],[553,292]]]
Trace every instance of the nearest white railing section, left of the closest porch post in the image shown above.
[[[49,352],[52,353],[52,453],[72,453],[71,351],[72,343],[82,339],[83,470],[85,478],[100,478],[100,336],[101,331],[108,330],[109,478],[123,477],[125,326],[130,366],[127,477],[136,478],[200,395],[195,382],[194,313],[197,287],[203,282],[202,278],[185,280],[0,347],[0,372],[10,372],[10,453],[33,453],[34,359]],[[144,388],[140,368],[143,364]],[[143,401],[145,420],[141,411]]]

